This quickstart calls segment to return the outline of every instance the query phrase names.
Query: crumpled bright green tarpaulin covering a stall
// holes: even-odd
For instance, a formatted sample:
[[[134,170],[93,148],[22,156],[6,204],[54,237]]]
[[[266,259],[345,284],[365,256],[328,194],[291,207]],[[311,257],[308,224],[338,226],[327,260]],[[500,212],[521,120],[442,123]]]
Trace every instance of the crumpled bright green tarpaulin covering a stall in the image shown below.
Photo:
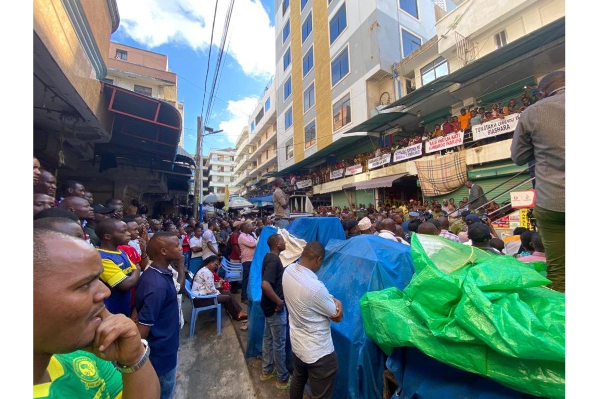
[[[443,363],[548,398],[565,396],[565,296],[534,267],[443,237],[412,236],[415,275],[365,294],[364,328],[386,354],[416,346]]]

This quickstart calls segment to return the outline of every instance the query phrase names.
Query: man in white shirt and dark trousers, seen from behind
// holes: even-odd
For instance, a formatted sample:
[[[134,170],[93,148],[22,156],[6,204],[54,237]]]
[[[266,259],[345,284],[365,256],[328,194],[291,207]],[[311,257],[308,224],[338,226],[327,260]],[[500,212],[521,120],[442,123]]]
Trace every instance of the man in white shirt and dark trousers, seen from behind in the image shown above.
[[[306,244],[301,260],[283,273],[283,294],[289,311],[289,337],[293,352],[294,375],[290,399],[302,399],[310,380],[311,397],[330,398],[337,355],[331,338],[331,320],[340,322],[343,306],[316,277],[325,257],[318,241]]]

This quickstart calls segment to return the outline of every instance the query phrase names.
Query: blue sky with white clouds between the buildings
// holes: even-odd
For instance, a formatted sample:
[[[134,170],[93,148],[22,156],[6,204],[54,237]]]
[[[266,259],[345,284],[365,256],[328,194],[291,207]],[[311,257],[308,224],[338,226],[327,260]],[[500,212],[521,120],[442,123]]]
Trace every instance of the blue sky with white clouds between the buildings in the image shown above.
[[[119,29],[112,40],[167,54],[178,79],[179,101],[184,102],[184,148],[195,153],[197,117],[202,109],[204,79],[216,0],[117,0]],[[219,52],[229,1],[218,3],[208,74],[208,93]],[[259,97],[274,74],[274,1],[235,0],[220,83],[206,126],[225,130],[204,139],[210,148],[235,147]],[[204,110],[204,114],[205,114]]]

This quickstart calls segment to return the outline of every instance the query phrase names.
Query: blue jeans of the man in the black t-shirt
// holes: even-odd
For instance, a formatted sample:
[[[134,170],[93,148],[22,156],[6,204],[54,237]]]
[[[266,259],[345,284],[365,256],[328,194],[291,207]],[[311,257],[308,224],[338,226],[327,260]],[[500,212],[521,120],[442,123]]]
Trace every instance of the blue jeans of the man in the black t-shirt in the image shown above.
[[[287,328],[287,309],[264,318],[264,337],[262,337],[262,374],[270,374],[277,368],[277,379],[286,382],[289,371],[285,366],[285,340]],[[274,362],[273,362],[274,355]]]

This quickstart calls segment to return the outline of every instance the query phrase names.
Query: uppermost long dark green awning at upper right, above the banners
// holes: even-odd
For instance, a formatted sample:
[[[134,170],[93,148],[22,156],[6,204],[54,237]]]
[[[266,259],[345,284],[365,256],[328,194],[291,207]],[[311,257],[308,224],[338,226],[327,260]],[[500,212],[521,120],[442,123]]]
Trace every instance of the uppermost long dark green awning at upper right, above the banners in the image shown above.
[[[449,87],[454,83],[465,83],[503,65],[504,63],[510,62],[537,48],[543,47],[543,45],[546,45],[549,42],[561,39],[563,36],[565,36],[565,17],[561,17],[528,35],[522,36],[521,38],[486,54],[480,59],[474,60],[472,63],[463,66],[449,75],[445,75],[431,83],[425,84],[425,86],[392,102],[383,109],[394,108],[398,105],[410,106],[418,103],[429,96],[446,89],[446,87]]]

